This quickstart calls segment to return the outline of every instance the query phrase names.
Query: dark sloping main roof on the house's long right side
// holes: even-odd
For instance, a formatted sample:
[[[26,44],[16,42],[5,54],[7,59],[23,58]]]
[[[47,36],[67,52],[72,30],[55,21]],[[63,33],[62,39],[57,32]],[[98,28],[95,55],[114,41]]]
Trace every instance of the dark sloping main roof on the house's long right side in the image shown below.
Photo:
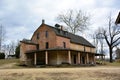
[[[82,36],[78,36],[78,35],[72,34],[70,32],[63,31],[59,28],[56,28],[56,27],[53,27],[53,26],[50,26],[50,25],[47,25],[47,24],[45,24],[45,25],[50,27],[55,32],[56,35],[62,36],[62,37],[65,37],[65,38],[70,38],[71,43],[81,44],[81,45],[85,45],[85,46],[95,48],[95,46],[93,46],[89,41],[87,41]]]

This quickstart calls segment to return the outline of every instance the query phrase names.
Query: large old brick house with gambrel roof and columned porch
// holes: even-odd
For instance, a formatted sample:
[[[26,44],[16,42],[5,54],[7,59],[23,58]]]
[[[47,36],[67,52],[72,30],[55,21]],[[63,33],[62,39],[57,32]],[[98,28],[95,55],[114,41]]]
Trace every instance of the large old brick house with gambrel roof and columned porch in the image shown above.
[[[94,64],[95,47],[81,36],[42,24],[31,40],[20,41],[20,60],[27,65]]]

